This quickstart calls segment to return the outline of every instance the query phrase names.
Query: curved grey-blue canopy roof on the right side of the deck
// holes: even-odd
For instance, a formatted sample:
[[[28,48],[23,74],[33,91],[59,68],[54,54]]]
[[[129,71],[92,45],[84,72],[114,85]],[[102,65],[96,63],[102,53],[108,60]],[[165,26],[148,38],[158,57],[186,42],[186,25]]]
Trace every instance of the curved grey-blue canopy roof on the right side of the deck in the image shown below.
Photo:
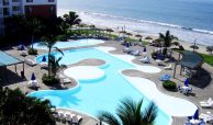
[[[203,61],[203,58],[194,52],[181,52],[181,54],[182,54],[182,59],[177,63],[178,65],[182,65],[184,67],[195,69]]]

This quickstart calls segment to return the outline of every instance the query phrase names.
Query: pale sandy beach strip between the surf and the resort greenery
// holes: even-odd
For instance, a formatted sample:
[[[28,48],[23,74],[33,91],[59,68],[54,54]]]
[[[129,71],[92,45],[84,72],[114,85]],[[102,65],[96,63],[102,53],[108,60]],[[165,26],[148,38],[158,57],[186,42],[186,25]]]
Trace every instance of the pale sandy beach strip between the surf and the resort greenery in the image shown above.
[[[64,10],[64,9],[59,9],[58,10],[58,16],[61,16],[61,15],[64,15],[65,13],[68,13],[69,11],[74,11],[74,10]],[[79,16],[80,16],[80,19],[81,19],[81,12],[77,12],[78,14],[79,14]],[[87,25],[96,25],[96,27],[99,27],[99,29],[112,29],[114,32],[112,33],[112,34],[114,34],[114,35],[119,35],[120,33],[120,31],[121,31],[121,29],[125,29],[125,27],[116,27],[116,26],[114,26],[114,25],[103,25],[103,24],[97,24],[96,22],[89,22],[89,21],[87,21],[87,20],[82,20],[82,23],[83,24],[87,24]],[[147,36],[149,36],[149,37],[152,37],[153,39],[156,39],[156,38],[158,38],[158,36],[155,34],[152,34],[152,33],[146,33],[146,34],[143,34],[143,33],[139,33],[139,32],[134,32],[134,31],[131,31],[131,30],[128,30],[128,29],[126,29],[126,32],[128,32],[128,33],[131,33],[131,34],[133,34],[131,37],[133,37],[133,38],[135,38],[134,36],[136,35],[136,34],[141,34],[144,38],[145,37],[147,37]],[[164,33],[164,32],[161,32],[161,33]],[[172,34],[172,33],[171,33]],[[143,41],[145,41],[145,39],[143,39]],[[184,49],[187,49],[187,50],[192,50],[192,48],[190,48],[190,46],[191,45],[193,45],[193,43],[192,42],[189,42],[189,41],[182,41],[182,39],[179,39],[178,41],[179,42],[179,44],[180,45],[182,45],[183,47],[184,47]],[[206,46],[208,45],[202,45],[202,44],[200,44],[200,43],[197,43],[195,44],[198,47],[199,47],[199,49],[197,49],[195,52],[198,52],[198,53],[202,53],[202,54],[209,54],[209,52],[206,52]]]

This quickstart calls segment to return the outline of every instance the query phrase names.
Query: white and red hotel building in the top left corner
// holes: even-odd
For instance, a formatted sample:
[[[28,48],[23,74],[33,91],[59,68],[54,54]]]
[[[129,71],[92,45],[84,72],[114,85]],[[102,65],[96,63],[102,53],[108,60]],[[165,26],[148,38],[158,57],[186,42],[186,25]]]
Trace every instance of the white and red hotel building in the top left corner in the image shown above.
[[[0,36],[4,18],[23,14],[33,18],[56,16],[57,0],[0,0]]]

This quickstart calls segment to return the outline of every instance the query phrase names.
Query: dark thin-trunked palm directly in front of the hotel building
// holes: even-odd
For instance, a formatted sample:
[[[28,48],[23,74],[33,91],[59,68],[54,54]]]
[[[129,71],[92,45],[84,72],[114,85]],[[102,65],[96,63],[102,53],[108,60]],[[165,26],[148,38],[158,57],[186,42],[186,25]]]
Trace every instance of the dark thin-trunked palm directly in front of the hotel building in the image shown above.
[[[29,34],[31,35],[31,44],[32,44],[32,49],[33,49],[33,44],[34,44],[34,35],[40,33],[42,30],[43,25],[42,22],[37,19],[27,19],[26,20],[26,30]]]

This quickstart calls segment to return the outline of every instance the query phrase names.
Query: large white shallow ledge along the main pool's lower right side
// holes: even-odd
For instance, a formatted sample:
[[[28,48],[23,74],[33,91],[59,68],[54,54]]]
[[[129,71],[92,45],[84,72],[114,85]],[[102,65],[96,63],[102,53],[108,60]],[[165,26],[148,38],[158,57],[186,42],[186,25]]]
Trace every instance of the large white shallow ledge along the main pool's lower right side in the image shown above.
[[[198,109],[190,101],[161,93],[156,84],[148,79],[127,76],[124,78],[171,116],[192,116]]]

